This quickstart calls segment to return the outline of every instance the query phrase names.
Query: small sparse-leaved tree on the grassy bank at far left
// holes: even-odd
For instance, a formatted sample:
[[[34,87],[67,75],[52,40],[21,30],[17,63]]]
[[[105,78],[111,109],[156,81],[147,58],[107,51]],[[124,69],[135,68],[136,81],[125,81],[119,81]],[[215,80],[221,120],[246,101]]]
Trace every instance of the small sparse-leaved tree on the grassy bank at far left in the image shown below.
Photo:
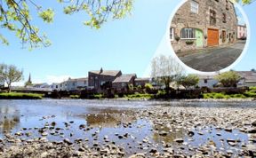
[[[11,92],[12,83],[19,82],[22,79],[23,71],[13,65],[0,64],[0,76],[4,83],[7,83],[8,92]]]

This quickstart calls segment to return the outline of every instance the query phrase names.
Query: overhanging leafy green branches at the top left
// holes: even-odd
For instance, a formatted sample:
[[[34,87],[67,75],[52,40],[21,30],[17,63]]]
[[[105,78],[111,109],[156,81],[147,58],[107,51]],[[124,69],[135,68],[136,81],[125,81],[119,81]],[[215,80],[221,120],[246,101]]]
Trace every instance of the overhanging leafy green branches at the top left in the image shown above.
[[[84,25],[92,28],[100,26],[108,19],[121,19],[132,10],[132,0],[57,0],[63,5],[63,12],[71,15],[85,12],[87,20]],[[41,3],[41,4],[40,4]],[[0,26],[12,31],[20,38],[22,45],[29,48],[49,46],[51,42],[32,21],[31,8],[46,23],[54,19],[52,8],[44,8],[42,2],[36,0],[0,0]],[[1,31],[2,32],[2,31]],[[3,31],[4,32],[4,31]],[[0,34],[0,42],[8,44],[8,40]]]

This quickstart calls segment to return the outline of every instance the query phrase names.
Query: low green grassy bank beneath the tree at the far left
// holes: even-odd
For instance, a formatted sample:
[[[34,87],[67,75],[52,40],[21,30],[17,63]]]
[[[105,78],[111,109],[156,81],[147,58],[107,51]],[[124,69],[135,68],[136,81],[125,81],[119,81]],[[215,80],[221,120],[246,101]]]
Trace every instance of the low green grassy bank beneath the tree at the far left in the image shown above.
[[[10,92],[0,93],[0,99],[43,99],[42,94]]]

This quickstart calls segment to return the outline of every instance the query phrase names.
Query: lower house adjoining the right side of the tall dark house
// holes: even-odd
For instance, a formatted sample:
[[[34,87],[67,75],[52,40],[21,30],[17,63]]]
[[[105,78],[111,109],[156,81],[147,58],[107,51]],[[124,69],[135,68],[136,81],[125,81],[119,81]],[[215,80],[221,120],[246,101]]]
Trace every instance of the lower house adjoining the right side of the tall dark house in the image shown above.
[[[129,85],[135,85],[136,77],[136,74],[120,75],[113,81],[112,88],[116,89],[117,91],[127,91],[129,89]]]

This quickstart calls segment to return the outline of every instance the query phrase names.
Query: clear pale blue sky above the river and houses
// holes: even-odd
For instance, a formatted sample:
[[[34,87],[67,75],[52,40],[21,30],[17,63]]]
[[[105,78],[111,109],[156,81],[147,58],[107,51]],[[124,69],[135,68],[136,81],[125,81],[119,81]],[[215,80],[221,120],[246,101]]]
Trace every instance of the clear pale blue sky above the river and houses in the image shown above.
[[[95,30],[84,26],[87,20],[84,13],[65,15],[60,4],[47,2],[44,6],[55,11],[54,22],[45,24],[36,17],[33,20],[52,45],[33,51],[22,49],[19,39],[0,29],[10,42],[9,46],[0,45],[0,62],[23,69],[24,80],[16,84],[27,81],[29,73],[33,83],[58,83],[69,76],[86,77],[88,71],[100,67],[122,70],[123,74],[136,73],[139,77],[148,75],[151,59],[156,54],[172,54],[171,44],[166,44],[166,32],[179,4],[177,0],[134,0],[131,15],[124,20],[108,20]],[[232,67],[236,70],[256,68],[256,36],[252,36],[256,34],[252,29],[256,28],[255,6],[256,3],[242,6],[250,23],[251,39],[243,59]]]

